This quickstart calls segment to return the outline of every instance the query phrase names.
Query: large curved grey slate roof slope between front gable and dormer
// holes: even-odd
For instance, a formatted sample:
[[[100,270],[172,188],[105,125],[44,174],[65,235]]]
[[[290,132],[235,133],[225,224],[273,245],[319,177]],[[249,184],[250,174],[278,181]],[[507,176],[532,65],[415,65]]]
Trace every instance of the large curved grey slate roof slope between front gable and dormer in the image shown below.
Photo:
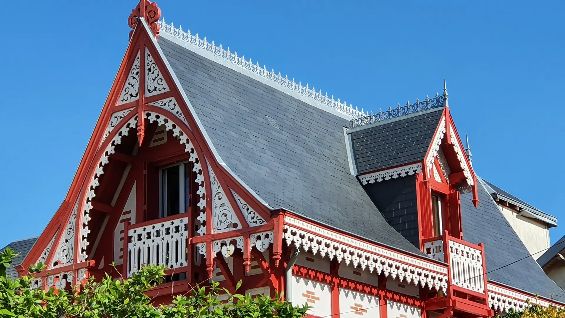
[[[282,207],[423,255],[386,222],[349,173],[347,119],[212,62],[169,38],[160,36],[158,44],[216,151],[271,208]]]

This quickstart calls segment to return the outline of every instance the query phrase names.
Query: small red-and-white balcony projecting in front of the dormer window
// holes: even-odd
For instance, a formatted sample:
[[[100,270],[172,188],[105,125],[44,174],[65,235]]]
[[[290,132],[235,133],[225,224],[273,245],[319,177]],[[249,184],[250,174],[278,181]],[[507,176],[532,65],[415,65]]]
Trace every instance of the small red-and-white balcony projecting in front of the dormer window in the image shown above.
[[[485,249],[444,235],[423,240],[424,253],[432,259],[449,264],[450,289],[486,298]]]

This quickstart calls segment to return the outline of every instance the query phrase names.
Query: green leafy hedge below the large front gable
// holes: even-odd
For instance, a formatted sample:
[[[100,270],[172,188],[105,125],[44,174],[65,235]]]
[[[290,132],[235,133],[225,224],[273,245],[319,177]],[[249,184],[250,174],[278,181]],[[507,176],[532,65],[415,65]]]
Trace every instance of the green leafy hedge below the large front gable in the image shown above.
[[[0,318],[301,318],[307,306],[295,307],[286,300],[269,296],[251,299],[249,295],[229,294],[219,284],[195,286],[189,293],[175,295],[172,304],[156,306],[145,291],[163,281],[164,267],[146,267],[126,280],[106,276],[93,278],[72,291],[31,289],[33,277],[10,279],[6,268],[16,256],[13,250],[0,252]],[[45,265],[29,268],[39,273]],[[237,288],[241,286],[238,282]],[[76,286],[78,287],[78,286]],[[228,293],[227,302],[220,302],[220,293]]]

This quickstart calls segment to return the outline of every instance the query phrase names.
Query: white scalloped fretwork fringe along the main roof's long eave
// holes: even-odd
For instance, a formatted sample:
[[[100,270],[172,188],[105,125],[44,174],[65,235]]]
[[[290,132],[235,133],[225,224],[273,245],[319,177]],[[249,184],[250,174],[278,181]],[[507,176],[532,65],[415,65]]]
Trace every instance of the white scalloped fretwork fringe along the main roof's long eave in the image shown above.
[[[285,222],[290,220],[292,219],[285,217]],[[295,220],[294,222],[300,223],[301,221]],[[315,233],[328,234],[327,230],[320,229],[317,226],[310,225],[310,227],[314,229]],[[446,274],[432,272],[406,263],[427,265],[427,267],[439,269],[442,272],[447,272],[447,268],[431,265],[409,257],[405,257],[404,261],[406,261],[406,263],[400,263],[390,259],[389,257],[384,257],[382,255],[377,255],[376,253],[368,252],[367,250],[360,250],[359,248],[338,243],[328,239],[327,237],[328,235],[323,237],[289,225],[285,225],[283,229],[283,239],[288,246],[294,244],[295,247],[302,248],[306,252],[310,251],[314,255],[316,253],[320,253],[321,257],[328,256],[330,260],[335,258],[339,262],[344,261],[346,265],[360,267],[363,270],[368,268],[370,272],[376,270],[378,274],[384,273],[385,276],[390,275],[393,279],[398,278],[400,281],[406,280],[406,282],[413,283],[414,285],[420,284],[422,287],[427,286],[429,289],[441,289],[444,292],[447,290],[448,277]],[[353,241],[353,239],[349,240]],[[360,245],[369,247],[366,243],[360,243]],[[376,247],[374,247],[374,249],[380,250],[380,248]],[[392,255],[396,253],[390,254]]]

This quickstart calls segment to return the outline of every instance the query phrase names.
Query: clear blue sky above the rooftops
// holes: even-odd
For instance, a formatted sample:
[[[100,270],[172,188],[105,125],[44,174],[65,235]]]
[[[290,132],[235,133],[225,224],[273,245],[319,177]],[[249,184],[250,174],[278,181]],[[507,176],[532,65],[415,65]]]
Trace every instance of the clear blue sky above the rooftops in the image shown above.
[[[565,222],[565,2],[158,3],[167,22],[365,110],[441,93],[447,78],[477,174]],[[64,199],[136,4],[3,3],[0,246],[39,235]]]

